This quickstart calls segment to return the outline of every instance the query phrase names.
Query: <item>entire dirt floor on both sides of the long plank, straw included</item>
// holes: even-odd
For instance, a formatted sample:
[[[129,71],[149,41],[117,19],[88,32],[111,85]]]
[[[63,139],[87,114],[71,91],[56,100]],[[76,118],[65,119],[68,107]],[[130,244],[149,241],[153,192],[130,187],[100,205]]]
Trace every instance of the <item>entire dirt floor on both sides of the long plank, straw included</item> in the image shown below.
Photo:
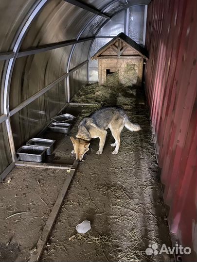
[[[145,254],[149,244],[171,243],[143,89],[90,84],[73,102],[92,105],[71,104],[65,110],[77,116],[69,136],[49,131],[41,135],[56,139],[48,163],[73,163],[70,136],[76,134],[80,120],[101,105],[122,106],[131,122],[140,124],[143,130],[130,132],[124,128],[117,155],[111,154],[110,131],[102,155],[96,154],[98,139],[92,140],[41,261],[170,261],[169,257]],[[0,185],[0,261],[28,261],[65,176],[64,170],[17,167]],[[7,183],[9,178],[12,180]],[[25,213],[7,218],[18,212]],[[83,220],[91,222],[91,230],[84,235],[75,229]]]

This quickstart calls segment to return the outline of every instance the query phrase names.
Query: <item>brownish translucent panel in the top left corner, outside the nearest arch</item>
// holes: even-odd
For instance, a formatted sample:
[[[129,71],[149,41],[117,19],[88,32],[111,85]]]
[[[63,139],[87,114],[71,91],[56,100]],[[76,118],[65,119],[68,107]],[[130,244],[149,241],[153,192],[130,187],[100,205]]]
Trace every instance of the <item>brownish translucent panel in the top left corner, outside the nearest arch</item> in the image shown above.
[[[0,0],[0,52],[12,49],[12,42],[35,0]]]

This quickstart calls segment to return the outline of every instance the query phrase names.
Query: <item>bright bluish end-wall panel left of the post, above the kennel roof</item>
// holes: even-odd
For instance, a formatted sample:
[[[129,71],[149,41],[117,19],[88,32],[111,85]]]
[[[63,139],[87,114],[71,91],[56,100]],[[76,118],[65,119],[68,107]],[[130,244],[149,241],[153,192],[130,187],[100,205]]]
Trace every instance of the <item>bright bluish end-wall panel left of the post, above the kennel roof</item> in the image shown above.
[[[125,11],[120,12],[116,16],[113,16],[99,31],[97,36],[110,35],[116,36],[117,34],[124,32]]]

